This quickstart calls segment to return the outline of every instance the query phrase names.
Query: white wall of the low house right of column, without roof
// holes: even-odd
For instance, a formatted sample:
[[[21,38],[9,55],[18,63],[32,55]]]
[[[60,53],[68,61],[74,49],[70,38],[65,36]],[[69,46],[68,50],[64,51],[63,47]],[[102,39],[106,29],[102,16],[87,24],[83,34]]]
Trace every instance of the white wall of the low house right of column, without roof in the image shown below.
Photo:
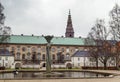
[[[78,68],[84,67],[84,66],[96,67],[96,62],[93,60],[92,57],[72,57],[71,61],[72,61],[73,67],[78,67]],[[113,57],[111,57],[107,61],[107,67],[114,67],[115,65],[116,65],[115,60],[113,59]],[[104,64],[99,60],[98,66],[103,67]]]

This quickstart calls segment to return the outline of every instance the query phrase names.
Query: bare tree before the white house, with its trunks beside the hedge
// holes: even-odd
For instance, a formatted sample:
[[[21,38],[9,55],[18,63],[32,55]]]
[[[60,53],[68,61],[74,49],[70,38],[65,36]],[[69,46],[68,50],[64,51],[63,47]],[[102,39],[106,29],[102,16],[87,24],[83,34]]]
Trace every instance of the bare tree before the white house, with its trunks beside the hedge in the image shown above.
[[[98,61],[103,63],[104,69],[107,67],[107,61],[111,57],[108,49],[111,49],[107,41],[108,32],[105,27],[105,22],[102,19],[97,19],[94,27],[88,34],[88,38],[95,42],[95,47],[89,49],[91,57],[96,61],[98,67]],[[90,42],[88,41],[88,44]]]

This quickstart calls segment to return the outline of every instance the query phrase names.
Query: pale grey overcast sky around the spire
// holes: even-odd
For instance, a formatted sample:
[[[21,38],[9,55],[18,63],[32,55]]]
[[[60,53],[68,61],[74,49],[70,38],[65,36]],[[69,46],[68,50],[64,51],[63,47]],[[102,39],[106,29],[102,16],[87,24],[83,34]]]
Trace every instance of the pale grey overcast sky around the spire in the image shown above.
[[[86,37],[97,18],[109,19],[120,0],[0,0],[12,34],[64,36],[71,10],[75,37]]]

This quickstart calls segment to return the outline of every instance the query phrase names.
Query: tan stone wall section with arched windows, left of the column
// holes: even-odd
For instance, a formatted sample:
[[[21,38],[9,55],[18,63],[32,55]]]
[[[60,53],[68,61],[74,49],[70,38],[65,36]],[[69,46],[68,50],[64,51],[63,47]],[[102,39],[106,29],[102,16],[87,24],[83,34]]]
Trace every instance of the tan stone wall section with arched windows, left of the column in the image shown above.
[[[40,54],[40,60],[42,59],[42,56],[46,54],[46,47],[45,45],[15,45],[11,44],[8,47],[9,51],[15,56],[15,60],[24,60],[30,58],[32,59],[33,53],[35,53],[36,57],[38,54]],[[29,57],[28,53],[30,54]],[[20,57],[18,57],[20,55]],[[23,57],[25,55],[25,57]],[[37,57],[38,58],[38,57]]]

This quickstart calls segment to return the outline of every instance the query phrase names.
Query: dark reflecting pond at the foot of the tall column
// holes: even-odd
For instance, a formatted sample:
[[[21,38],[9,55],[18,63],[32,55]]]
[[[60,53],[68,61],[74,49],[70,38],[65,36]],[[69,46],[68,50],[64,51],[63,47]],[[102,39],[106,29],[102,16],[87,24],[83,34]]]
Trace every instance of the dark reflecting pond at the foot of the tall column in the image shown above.
[[[0,79],[39,79],[39,78],[103,78],[109,77],[110,74],[100,74],[93,72],[52,72],[48,75],[45,72],[19,72],[0,73]]]

